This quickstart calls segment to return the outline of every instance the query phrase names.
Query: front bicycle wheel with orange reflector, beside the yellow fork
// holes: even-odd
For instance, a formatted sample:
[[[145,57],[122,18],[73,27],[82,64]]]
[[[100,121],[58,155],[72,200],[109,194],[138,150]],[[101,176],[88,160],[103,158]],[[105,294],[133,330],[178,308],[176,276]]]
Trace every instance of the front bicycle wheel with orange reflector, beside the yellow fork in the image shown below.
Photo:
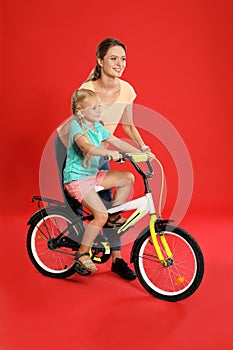
[[[199,245],[188,232],[166,226],[164,235],[173,255],[168,266],[159,262],[148,230],[135,242],[134,267],[140,283],[150,294],[162,300],[178,301],[189,297],[199,287],[204,259]],[[157,237],[165,254],[159,235]]]

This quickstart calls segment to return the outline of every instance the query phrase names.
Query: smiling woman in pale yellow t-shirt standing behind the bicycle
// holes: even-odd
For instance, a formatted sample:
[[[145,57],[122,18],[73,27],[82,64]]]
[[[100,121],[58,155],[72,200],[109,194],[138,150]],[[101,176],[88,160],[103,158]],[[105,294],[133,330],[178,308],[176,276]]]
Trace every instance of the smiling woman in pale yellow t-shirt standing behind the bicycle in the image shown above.
[[[115,39],[103,40],[96,50],[96,66],[88,79],[80,86],[94,91],[100,99],[102,106],[102,121],[112,134],[121,121],[123,130],[134,141],[141,151],[149,152],[149,146],[145,145],[137,128],[133,123],[132,104],[136,98],[133,87],[120,79],[126,67],[126,47]],[[59,129],[61,141],[67,147],[69,142],[69,126],[71,119],[67,120]],[[153,157],[153,155],[152,155]],[[104,162],[100,169],[109,170],[109,164]],[[103,198],[111,200],[109,192],[104,193]],[[136,274],[121,258],[120,240],[112,249],[112,271],[122,278],[133,280]]]

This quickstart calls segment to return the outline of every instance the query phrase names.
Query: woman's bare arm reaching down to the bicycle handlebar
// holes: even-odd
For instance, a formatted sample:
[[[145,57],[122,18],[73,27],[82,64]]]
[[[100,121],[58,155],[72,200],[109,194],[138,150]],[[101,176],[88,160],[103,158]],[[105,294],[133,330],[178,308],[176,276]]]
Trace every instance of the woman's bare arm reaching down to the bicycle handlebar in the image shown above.
[[[122,128],[125,131],[125,133],[129,136],[129,138],[134,141],[141,150],[143,150],[143,146],[145,147],[144,150],[149,150],[150,148],[146,148],[144,141],[142,140],[137,128],[135,127],[133,123],[133,114],[132,114],[132,104],[128,104],[123,112],[122,115]]]

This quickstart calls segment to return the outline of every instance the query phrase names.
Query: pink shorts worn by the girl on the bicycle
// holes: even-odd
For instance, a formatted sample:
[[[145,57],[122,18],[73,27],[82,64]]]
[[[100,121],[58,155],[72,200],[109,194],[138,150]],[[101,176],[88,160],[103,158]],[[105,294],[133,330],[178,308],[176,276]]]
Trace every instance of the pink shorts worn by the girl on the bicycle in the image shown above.
[[[99,170],[94,176],[89,176],[82,180],[75,180],[68,184],[64,184],[64,188],[67,190],[71,197],[74,197],[79,202],[86,197],[86,195],[95,188],[95,186],[101,186],[108,170]]]

